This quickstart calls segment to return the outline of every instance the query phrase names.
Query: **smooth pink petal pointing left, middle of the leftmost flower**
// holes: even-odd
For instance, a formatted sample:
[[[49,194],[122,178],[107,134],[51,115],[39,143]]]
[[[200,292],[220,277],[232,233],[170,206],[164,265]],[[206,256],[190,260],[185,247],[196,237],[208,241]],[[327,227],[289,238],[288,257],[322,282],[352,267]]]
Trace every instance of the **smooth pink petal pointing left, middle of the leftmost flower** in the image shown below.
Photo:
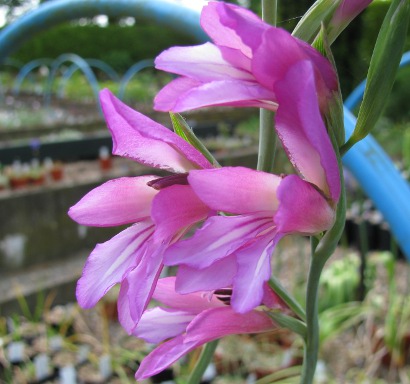
[[[88,192],[68,211],[77,223],[109,227],[135,223],[150,216],[151,203],[158,193],[147,183],[157,176],[122,177],[107,181]]]

